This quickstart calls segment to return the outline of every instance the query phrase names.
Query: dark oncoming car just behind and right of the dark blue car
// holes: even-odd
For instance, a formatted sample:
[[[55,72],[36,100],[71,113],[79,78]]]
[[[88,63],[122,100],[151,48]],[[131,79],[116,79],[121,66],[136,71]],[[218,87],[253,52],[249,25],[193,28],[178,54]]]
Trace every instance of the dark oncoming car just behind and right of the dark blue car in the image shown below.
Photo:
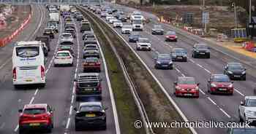
[[[183,48],[173,48],[170,53],[173,61],[186,61],[187,62],[187,50]]]

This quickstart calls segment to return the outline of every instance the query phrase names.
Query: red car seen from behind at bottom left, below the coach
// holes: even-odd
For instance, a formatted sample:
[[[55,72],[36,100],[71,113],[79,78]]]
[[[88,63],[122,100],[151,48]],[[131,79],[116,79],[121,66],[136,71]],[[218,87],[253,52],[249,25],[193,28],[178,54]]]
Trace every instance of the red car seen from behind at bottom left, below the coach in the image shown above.
[[[19,133],[39,129],[51,133],[53,109],[48,104],[28,104],[19,110]]]

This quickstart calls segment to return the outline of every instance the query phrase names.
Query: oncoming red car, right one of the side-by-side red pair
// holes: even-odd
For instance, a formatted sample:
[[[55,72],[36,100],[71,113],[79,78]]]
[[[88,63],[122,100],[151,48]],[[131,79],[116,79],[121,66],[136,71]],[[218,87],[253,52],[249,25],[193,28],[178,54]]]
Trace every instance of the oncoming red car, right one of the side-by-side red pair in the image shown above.
[[[230,78],[225,74],[213,74],[211,78],[208,79],[208,92],[211,94],[214,93],[223,93],[233,95],[234,87],[233,82],[230,81]]]

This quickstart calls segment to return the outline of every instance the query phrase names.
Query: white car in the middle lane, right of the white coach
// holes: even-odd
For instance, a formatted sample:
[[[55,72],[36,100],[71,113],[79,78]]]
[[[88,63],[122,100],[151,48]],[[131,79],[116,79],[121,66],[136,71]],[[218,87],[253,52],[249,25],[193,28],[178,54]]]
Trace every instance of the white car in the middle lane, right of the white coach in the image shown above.
[[[72,54],[67,50],[63,50],[63,51],[58,51],[56,53],[53,63],[54,63],[54,66],[58,66],[58,65],[73,66],[73,60],[74,58]]]

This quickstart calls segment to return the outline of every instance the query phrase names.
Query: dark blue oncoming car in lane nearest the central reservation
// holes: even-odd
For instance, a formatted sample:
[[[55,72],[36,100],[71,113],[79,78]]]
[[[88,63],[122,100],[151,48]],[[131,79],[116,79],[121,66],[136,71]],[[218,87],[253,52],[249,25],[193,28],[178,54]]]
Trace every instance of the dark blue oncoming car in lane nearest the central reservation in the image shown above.
[[[167,68],[173,70],[173,61],[170,54],[158,54],[154,60],[155,68]]]

